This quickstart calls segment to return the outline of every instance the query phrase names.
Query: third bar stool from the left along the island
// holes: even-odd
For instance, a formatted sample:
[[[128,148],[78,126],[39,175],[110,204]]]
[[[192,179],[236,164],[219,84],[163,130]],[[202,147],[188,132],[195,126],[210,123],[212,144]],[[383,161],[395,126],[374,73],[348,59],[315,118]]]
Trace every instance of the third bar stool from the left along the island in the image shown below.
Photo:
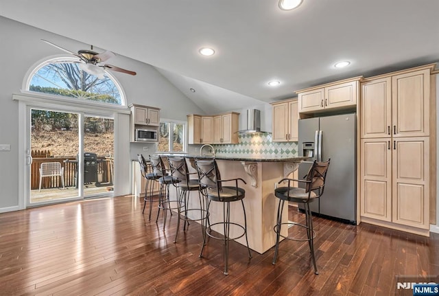
[[[186,225],[189,227],[189,220],[200,221],[203,232],[203,240],[205,234],[205,221],[208,217],[206,209],[206,198],[202,198],[200,194],[200,183],[198,179],[190,179],[191,174],[197,174],[196,172],[190,173],[187,166],[185,157],[168,157],[169,168],[171,169],[171,176],[177,179],[178,183],[173,183],[177,187],[178,192],[178,222],[176,238],[174,242],[177,242],[178,229],[180,229],[180,220],[184,220],[183,231],[186,230]],[[202,187],[201,187],[202,188]],[[191,191],[198,192],[198,201],[200,207],[189,207],[189,197]],[[194,213],[192,218],[188,217],[188,213]],[[200,216],[194,216],[199,213]],[[181,217],[182,216],[182,217]],[[196,218],[194,218],[196,217]]]

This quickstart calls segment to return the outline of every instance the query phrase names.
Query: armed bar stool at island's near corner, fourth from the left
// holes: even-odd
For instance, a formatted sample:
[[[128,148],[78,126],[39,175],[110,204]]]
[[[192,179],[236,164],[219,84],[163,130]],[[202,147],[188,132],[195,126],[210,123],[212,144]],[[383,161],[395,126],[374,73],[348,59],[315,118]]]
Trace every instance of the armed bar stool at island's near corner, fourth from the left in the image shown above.
[[[209,208],[211,206],[212,201],[222,203],[223,205],[222,221],[211,224],[209,218],[207,219],[206,235],[204,236],[204,242],[201,247],[200,257],[202,257],[204,246],[206,245],[206,236],[215,238],[217,240],[223,240],[224,241],[224,275],[228,275],[228,242],[230,240],[237,240],[238,238],[246,236],[248,258],[250,259],[252,258],[252,254],[250,253],[250,247],[248,247],[247,216],[246,216],[246,207],[244,207],[244,201],[243,201],[244,197],[246,196],[246,190],[238,187],[238,180],[244,182],[244,184],[246,184],[246,181],[244,181],[241,178],[222,180],[219,175],[219,170],[215,159],[211,159],[211,160],[195,159],[195,166],[198,171],[200,192],[202,192],[202,194],[208,200],[207,211],[209,212]],[[222,183],[227,181],[235,181],[235,186],[223,186]],[[234,201],[241,201],[242,210],[244,212],[244,226],[238,223],[230,222],[230,203],[233,203]],[[215,236],[215,234],[211,233],[213,230],[212,227],[215,225],[222,225],[222,230],[224,231],[223,236]],[[230,238],[231,225],[235,225],[241,228],[242,234]]]

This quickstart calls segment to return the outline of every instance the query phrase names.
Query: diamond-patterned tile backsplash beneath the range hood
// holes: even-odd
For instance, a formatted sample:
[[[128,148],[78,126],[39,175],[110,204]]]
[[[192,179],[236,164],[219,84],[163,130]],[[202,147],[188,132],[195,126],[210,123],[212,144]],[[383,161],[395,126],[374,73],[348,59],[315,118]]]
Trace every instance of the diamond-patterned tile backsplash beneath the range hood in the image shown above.
[[[217,155],[242,157],[296,157],[297,142],[273,142],[272,133],[239,135],[239,144],[215,144]]]

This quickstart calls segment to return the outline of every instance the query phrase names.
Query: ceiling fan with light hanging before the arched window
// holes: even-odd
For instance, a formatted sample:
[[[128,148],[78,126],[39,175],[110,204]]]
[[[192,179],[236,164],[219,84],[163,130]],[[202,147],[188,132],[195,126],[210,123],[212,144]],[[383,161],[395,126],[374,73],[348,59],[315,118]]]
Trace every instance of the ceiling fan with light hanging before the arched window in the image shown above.
[[[105,62],[109,58],[116,56],[113,52],[110,52],[109,50],[107,50],[106,52],[104,52],[102,54],[98,54],[97,52],[93,52],[93,45],[91,45],[91,50],[82,49],[82,50],[78,50],[78,53],[75,53],[75,52],[71,52],[69,49],[65,49],[65,48],[60,47],[59,45],[51,43],[50,41],[47,41],[44,39],[41,39],[41,40],[49,45],[52,45],[58,49],[61,49],[64,52],[67,52],[69,54],[73,54],[73,56],[80,58],[80,65],[79,65],[80,69],[82,69],[82,71],[86,71],[87,73],[95,75],[98,78],[101,78],[101,79],[104,78],[104,73],[105,73],[104,70],[117,71],[117,72],[121,72],[121,73],[127,73],[130,75],[137,74],[134,71],[122,69],[120,67],[116,67],[113,65],[108,65],[108,64],[99,65],[101,62]]]

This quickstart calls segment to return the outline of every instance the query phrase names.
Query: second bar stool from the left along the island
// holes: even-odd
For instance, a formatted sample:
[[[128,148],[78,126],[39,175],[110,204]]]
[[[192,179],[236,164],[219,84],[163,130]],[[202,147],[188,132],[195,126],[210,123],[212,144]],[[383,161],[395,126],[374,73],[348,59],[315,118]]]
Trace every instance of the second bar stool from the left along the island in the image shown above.
[[[163,162],[163,158],[165,157],[150,155],[150,161],[153,171],[156,174],[161,174],[162,176],[158,178],[158,183],[160,183],[160,190],[158,192],[158,211],[157,211],[156,223],[158,222],[158,216],[160,216],[160,210],[163,209],[163,230],[165,230],[167,209],[169,209],[171,215],[173,209],[178,209],[178,207],[171,207],[171,201],[169,200],[169,185],[173,183],[178,183],[178,180],[167,174],[167,170],[165,163]]]

